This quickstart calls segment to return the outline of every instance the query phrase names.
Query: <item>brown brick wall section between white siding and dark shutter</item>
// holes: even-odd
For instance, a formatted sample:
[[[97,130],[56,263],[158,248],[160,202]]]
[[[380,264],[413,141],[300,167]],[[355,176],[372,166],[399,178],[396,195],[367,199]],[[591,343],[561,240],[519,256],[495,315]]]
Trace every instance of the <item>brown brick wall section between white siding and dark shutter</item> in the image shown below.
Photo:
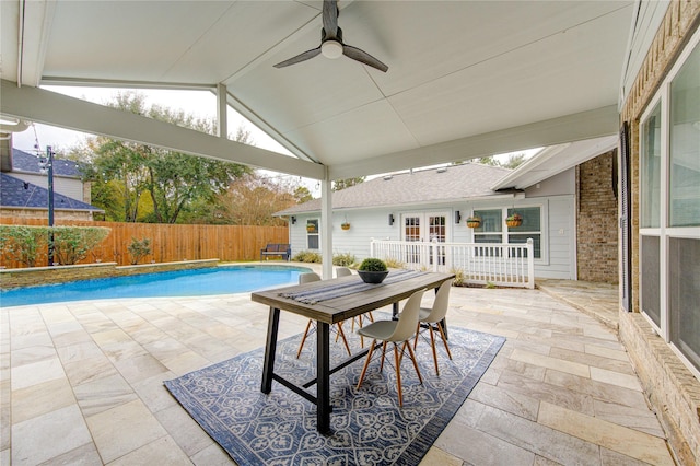
[[[582,281],[618,283],[617,198],[610,151],[576,167],[576,263]]]

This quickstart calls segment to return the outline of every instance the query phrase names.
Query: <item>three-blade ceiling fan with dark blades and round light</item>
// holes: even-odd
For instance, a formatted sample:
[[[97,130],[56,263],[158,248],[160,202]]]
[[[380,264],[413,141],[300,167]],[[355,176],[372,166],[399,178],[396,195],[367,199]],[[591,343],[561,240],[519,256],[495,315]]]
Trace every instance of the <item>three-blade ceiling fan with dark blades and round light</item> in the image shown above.
[[[360,61],[380,71],[386,72],[389,69],[386,65],[371,56],[364,50],[342,43],[342,30],[338,27],[338,0],[324,0],[323,21],[324,26],[320,30],[320,46],[306,50],[303,54],[292,57],[288,60],[275,65],[275,68],[289,67],[310,58],[314,58],[318,54],[323,54],[327,58],[338,58],[345,55],[348,58]]]

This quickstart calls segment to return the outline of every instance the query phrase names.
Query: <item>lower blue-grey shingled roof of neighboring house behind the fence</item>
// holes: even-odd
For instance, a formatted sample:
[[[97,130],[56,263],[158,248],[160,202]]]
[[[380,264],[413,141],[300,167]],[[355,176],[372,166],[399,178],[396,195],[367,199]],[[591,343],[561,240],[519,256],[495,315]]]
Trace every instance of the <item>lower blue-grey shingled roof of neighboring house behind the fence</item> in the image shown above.
[[[0,207],[48,209],[48,189],[5,173],[0,173]],[[54,193],[54,209],[103,211],[95,206],[81,202],[59,193]]]

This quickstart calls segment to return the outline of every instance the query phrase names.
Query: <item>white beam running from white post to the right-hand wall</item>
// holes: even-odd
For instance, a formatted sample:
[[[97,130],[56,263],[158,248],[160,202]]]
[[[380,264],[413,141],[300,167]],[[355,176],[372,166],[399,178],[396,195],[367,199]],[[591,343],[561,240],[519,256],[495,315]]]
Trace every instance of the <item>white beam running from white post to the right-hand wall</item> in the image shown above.
[[[396,172],[616,135],[617,105],[328,166],[330,179]]]

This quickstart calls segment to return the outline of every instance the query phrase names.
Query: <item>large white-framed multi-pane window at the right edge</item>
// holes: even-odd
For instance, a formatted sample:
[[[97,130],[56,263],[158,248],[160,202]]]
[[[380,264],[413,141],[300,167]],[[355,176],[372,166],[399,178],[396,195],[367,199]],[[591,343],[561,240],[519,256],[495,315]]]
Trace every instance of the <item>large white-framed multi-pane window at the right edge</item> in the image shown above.
[[[700,33],[640,121],[640,304],[700,376]]]

